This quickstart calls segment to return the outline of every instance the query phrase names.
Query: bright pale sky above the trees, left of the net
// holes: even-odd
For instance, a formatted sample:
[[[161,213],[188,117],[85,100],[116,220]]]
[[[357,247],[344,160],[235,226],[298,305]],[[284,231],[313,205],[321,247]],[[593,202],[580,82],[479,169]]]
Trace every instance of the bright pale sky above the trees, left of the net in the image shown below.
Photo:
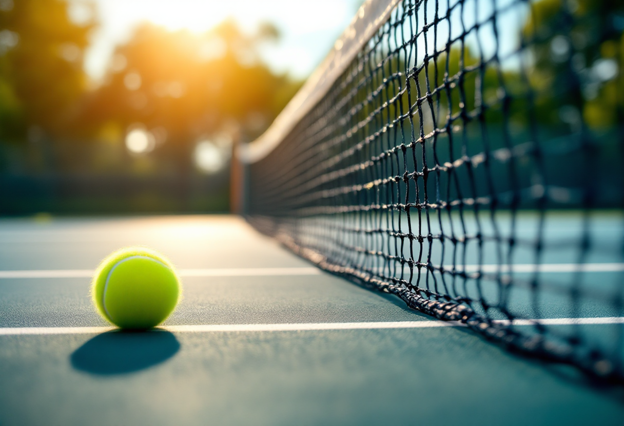
[[[85,69],[95,81],[105,73],[115,46],[130,39],[145,21],[171,31],[203,32],[233,17],[243,31],[271,22],[281,39],[261,52],[271,69],[307,77],[348,26],[361,0],[95,0],[100,26],[85,55]],[[76,3],[77,21],[85,13]]]

